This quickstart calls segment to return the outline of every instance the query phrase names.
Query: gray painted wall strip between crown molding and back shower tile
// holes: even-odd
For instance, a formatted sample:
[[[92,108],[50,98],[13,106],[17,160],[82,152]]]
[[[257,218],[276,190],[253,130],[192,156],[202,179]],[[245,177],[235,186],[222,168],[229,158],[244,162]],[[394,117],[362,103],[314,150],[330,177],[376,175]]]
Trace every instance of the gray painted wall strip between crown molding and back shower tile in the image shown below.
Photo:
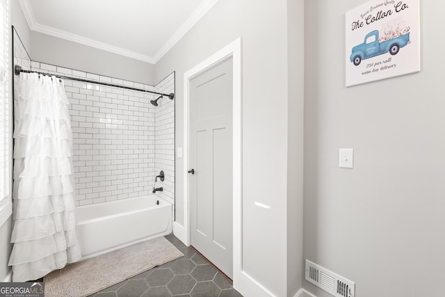
[[[33,61],[156,85],[154,65],[94,47],[31,31]]]

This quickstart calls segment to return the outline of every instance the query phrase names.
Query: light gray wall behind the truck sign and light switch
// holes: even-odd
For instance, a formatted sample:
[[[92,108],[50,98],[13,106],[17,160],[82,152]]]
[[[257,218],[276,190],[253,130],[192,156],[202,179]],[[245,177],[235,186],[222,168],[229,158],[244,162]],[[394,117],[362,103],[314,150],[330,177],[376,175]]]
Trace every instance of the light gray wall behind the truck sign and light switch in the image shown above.
[[[420,2],[421,72],[345,88],[345,12],[360,3],[305,1],[304,257],[360,297],[444,296],[445,2]]]

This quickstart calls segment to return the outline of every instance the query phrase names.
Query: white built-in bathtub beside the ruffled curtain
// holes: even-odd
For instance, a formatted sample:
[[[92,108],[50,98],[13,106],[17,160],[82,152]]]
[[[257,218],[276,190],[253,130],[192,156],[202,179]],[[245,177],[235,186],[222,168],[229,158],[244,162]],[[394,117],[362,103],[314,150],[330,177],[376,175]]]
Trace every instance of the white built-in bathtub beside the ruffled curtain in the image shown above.
[[[157,204],[159,202],[159,204]],[[76,207],[82,259],[172,232],[172,204],[156,195]]]

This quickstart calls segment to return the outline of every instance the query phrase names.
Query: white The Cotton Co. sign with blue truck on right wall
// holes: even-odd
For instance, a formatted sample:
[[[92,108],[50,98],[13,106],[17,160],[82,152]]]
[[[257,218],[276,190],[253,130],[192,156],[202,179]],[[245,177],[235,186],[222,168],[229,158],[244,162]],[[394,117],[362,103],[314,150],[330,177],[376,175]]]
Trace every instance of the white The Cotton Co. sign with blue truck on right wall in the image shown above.
[[[346,86],[420,71],[419,0],[371,0],[346,13]]]

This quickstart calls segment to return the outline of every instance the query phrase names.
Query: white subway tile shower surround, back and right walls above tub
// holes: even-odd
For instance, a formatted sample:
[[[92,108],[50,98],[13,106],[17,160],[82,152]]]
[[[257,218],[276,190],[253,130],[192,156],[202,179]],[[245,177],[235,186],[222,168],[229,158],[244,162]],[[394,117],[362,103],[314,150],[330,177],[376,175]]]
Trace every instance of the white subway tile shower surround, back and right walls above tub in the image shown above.
[[[175,72],[156,86],[31,62],[31,70],[175,93]],[[152,194],[175,203],[175,100],[65,79],[73,131],[76,205]],[[164,182],[154,179],[163,170]]]

